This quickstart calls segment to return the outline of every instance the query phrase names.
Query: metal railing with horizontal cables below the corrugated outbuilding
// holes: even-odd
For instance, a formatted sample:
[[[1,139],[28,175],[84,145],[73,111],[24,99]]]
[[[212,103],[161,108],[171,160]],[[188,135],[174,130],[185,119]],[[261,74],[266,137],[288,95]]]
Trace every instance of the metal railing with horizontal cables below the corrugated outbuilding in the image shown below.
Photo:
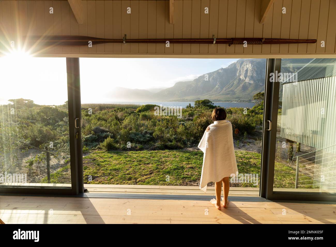
[[[335,178],[336,176],[333,176],[333,174],[331,174],[330,177],[323,177],[323,174],[328,174],[328,173],[336,173],[336,165],[331,165],[331,166],[328,166],[328,167],[323,167],[323,168],[319,168],[319,169],[314,169],[314,168],[311,168],[311,170],[307,170],[307,171],[302,171],[302,169],[307,169],[307,168],[310,168],[310,167],[314,167],[314,166],[318,166],[318,165],[323,165],[323,164],[328,164],[328,163],[335,163],[336,161],[336,155],[331,155],[331,156],[328,156],[328,157],[324,157],[322,156],[321,157],[318,157],[318,156],[321,156],[321,155],[326,155],[326,154],[329,154],[331,152],[335,152],[336,149],[333,149],[331,151],[328,151],[328,152],[325,152],[325,153],[321,153],[321,154],[318,154],[316,155],[316,152],[319,152],[319,151],[323,151],[323,150],[326,150],[326,149],[329,149],[329,148],[332,148],[332,147],[336,147],[336,144],[334,145],[331,145],[329,147],[325,147],[325,148],[322,148],[322,149],[318,149],[318,150],[315,150],[315,151],[312,151],[312,152],[309,152],[309,153],[306,153],[306,154],[302,154],[302,155],[298,155],[298,156],[295,156],[292,160],[294,160],[296,158],[296,172],[295,172],[295,189],[299,188],[299,186],[318,186],[318,185],[321,185],[321,184],[331,184],[331,183],[335,183],[335,182],[324,182],[323,179],[327,179],[327,178]],[[313,156],[310,156],[310,157],[307,157],[307,158],[304,158],[304,159],[300,159],[300,157],[302,156],[305,156],[305,155],[309,155],[309,154],[313,154]],[[318,157],[318,159],[316,159],[316,157]],[[306,165],[306,164],[309,164],[311,162],[316,162],[316,161],[325,161],[326,159],[330,159],[332,157],[335,157],[333,160],[330,160],[330,161],[327,161],[327,162],[322,162],[322,163],[318,163],[318,164],[314,164],[312,163],[313,165]],[[313,159],[312,161],[309,161],[309,159]],[[302,164],[300,164],[300,161],[301,160],[307,160],[307,162],[304,162]],[[300,165],[305,165],[304,167],[301,167],[300,168]],[[324,171],[324,169],[327,169],[327,168],[334,168],[332,171]],[[319,173],[316,173],[316,174],[311,174],[311,172],[313,171],[318,171]],[[302,174],[302,175],[300,175]],[[308,174],[308,175],[306,175]],[[320,175],[321,178],[313,178],[312,176],[316,176],[316,175]],[[299,180],[300,178],[302,177],[306,177],[307,179],[306,180]],[[309,179],[311,178],[311,179]],[[317,181],[317,183],[315,183],[314,181],[315,180],[319,180]],[[307,182],[307,181],[311,181],[312,183],[309,183],[309,184],[299,184],[299,182]],[[302,187],[301,187],[302,188]],[[323,189],[336,189],[335,186],[332,186],[332,187],[327,187],[327,188],[323,188]]]

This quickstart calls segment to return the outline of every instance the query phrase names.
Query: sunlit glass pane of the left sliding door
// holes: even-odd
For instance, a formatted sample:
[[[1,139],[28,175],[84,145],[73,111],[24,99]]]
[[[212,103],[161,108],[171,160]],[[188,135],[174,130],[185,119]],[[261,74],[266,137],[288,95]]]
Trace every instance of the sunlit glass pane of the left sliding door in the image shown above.
[[[0,58],[0,187],[71,189],[66,58]]]

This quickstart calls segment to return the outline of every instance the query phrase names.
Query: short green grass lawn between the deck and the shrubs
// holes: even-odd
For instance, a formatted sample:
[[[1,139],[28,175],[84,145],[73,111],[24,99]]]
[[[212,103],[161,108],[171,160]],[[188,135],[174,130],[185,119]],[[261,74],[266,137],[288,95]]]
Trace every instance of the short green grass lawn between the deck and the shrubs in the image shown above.
[[[260,154],[236,150],[239,173],[255,173],[260,179]],[[96,184],[142,184],[198,186],[202,151],[94,151],[83,157],[84,182]],[[295,170],[276,162],[275,187],[293,188]],[[88,181],[89,176],[92,181]],[[258,187],[234,183],[234,187]]]

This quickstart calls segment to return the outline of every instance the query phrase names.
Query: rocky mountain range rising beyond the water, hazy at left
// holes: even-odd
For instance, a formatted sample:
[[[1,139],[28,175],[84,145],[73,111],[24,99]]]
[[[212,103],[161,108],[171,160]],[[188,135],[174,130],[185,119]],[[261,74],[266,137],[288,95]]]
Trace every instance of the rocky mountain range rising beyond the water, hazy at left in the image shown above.
[[[312,58],[282,59],[281,72],[292,73]],[[264,91],[266,59],[239,59],[226,68],[201,75],[193,81],[177,82],[158,92],[118,87],[112,93],[117,101],[251,101]],[[282,87],[280,87],[282,94]]]

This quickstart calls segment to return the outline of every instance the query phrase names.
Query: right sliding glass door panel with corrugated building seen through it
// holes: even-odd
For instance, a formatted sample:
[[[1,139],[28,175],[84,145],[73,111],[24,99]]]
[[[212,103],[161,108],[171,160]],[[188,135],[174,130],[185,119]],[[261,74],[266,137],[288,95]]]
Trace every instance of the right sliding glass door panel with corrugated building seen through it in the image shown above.
[[[336,59],[282,59],[271,73],[266,196],[335,200]]]

